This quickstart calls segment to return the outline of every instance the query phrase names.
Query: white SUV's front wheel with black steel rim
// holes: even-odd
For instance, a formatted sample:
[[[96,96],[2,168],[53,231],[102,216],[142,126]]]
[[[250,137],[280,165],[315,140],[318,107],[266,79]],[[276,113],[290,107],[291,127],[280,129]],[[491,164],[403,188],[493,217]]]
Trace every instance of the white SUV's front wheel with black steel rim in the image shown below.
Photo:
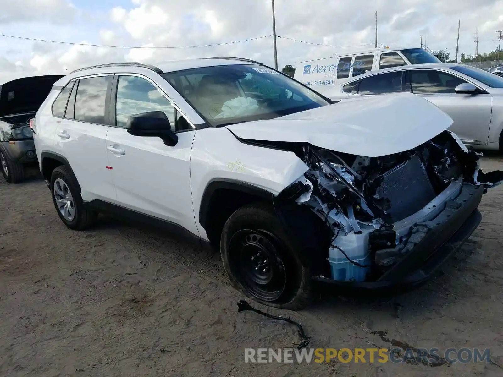
[[[235,211],[223,227],[220,253],[232,285],[250,299],[289,310],[309,304],[308,260],[270,206],[246,205]]]

